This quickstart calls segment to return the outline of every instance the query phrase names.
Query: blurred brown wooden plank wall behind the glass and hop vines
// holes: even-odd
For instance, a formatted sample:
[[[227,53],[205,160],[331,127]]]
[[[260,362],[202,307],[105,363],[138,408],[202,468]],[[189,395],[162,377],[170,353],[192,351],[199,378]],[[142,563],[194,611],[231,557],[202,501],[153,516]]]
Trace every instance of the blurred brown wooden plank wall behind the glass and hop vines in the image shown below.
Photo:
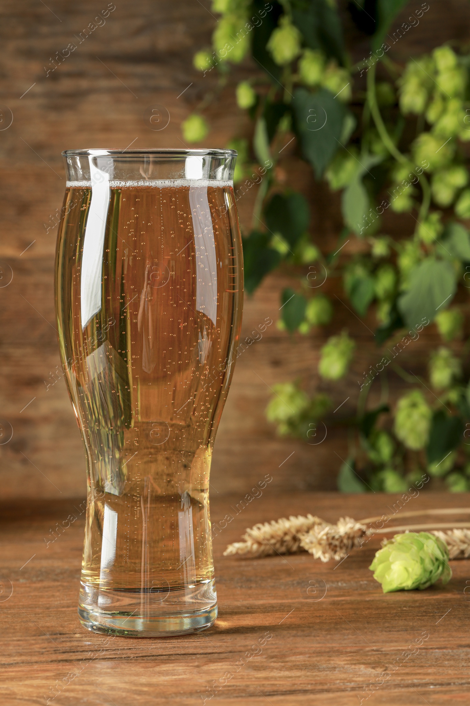
[[[466,0],[429,0],[430,9],[390,54],[406,61],[445,40],[469,40],[470,5]],[[65,178],[61,150],[85,147],[173,147],[181,144],[180,124],[204,92],[214,85],[192,68],[192,55],[209,44],[216,23],[210,0],[116,0],[106,24],[94,30],[56,71],[46,76],[56,52],[79,35],[106,8],[106,0],[38,0],[0,5],[0,493],[64,498],[85,494],[80,434],[63,379],[54,380],[60,361],[54,328],[54,214],[61,208]],[[421,2],[410,2],[410,11]],[[404,11],[397,25],[407,17]],[[367,54],[366,45],[357,52]],[[233,73],[233,82],[256,68],[247,61]],[[213,82],[211,84],[211,82]],[[191,84],[191,85],[190,85]],[[188,87],[189,86],[189,87]],[[184,92],[183,92],[184,91]],[[151,131],[144,111],[163,104],[168,126]],[[9,122],[8,109],[13,114]],[[242,113],[228,88],[208,112],[211,133],[204,146],[224,147],[242,134]],[[325,251],[335,248],[339,203],[325,184],[314,184],[311,172],[288,150],[282,163],[290,184],[305,193],[312,205],[311,232]],[[248,227],[253,193],[238,202],[242,225]],[[411,232],[407,217],[395,217],[384,229],[400,237]],[[349,247],[349,245],[347,246]],[[12,277],[12,279],[11,279]],[[11,280],[11,281],[10,281]],[[8,284],[9,282],[9,284]],[[271,316],[278,318],[278,294],[290,282],[288,273],[269,277],[252,299],[245,301],[243,335]],[[322,290],[341,297],[339,282],[328,280]],[[276,438],[264,419],[273,383],[297,376],[310,392],[327,390],[316,375],[319,348],[333,329],[345,326],[359,337],[352,371],[330,393],[345,416],[354,410],[363,371],[379,359],[371,330],[345,306],[338,308],[330,330],[291,342],[271,325],[261,341],[237,361],[214,451],[213,491],[245,495],[252,484],[270,473],[268,489],[335,489],[340,456],[347,453],[344,431],[328,429],[318,445]],[[420,371],[433,327],[402,354],[405,369]],[[60,374],[60,373],[59,373]],[[390,376],[391,399],[402,389]],[[371,392],[371,402],[380,395]],[[8,441],[10,429],[13,437]],[[2,441],[3,440],[3,441]],[[287,460],[286,460],[287,459]]]

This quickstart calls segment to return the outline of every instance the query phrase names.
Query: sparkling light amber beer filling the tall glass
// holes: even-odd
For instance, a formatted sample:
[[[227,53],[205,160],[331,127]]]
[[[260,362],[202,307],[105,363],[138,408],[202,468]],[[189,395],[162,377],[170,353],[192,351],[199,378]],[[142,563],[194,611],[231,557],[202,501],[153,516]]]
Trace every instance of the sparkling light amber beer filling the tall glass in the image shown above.
[[[230,186],[110,193],[101,309],[84,329],[92,189],[66,191],[56,262],[61,357],[87,460],[82,582],[165,594],[214,578],[209,469],[240,333],[240,232]]]

